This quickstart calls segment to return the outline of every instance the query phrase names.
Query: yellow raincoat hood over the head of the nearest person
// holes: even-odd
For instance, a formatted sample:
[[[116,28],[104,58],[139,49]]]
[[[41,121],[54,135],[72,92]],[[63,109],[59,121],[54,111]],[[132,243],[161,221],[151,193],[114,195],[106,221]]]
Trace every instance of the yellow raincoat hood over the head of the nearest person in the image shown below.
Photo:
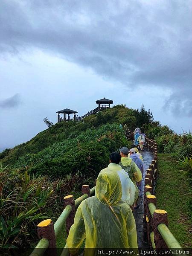
[[[117,204],[122,198],[119,175],[106,168],[97,177],[95,195],[103,204]]]

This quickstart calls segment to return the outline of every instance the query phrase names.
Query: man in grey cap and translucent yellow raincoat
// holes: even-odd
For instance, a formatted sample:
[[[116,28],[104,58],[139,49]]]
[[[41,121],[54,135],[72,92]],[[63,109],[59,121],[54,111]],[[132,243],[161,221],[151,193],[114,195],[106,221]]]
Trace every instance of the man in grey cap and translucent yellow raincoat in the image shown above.
[[[119,165],[128,173],[130,179],[133,181],[136,191],[135,191],[135,201],[134,201],[134,209],[137,209],[139,206],[137,205],[137,199],[139,196],[139,189],[137,188],[137,183],[139,184],[142,180],[142,173],[140,169],[137,167],[136,163],[131,158],[128,158],[129,150],[127,147],[122,147],[119,149],[121,155],[121,161]]]

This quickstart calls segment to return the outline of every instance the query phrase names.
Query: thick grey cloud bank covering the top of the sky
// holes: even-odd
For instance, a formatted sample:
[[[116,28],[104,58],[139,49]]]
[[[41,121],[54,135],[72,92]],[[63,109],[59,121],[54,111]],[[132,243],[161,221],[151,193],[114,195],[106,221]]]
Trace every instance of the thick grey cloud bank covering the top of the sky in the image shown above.
[[[191,1],[4,0],[0,9],[1,52],[37,47],[129,87],[170,88],[167,109],[185,102],[192,112]]]

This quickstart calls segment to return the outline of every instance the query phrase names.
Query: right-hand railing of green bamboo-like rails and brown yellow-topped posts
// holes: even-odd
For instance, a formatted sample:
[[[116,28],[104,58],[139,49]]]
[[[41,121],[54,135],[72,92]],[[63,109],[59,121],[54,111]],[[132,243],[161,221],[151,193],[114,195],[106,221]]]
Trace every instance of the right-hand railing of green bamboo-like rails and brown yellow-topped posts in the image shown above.
[[[145,140],[148,150],[154,153],[154,160],[145,175],[143,240],[148,242],[151,249],[181,248],[168,228],[167,212],[156,208],[154,191],[158,176],[157,143],[148,138]]]

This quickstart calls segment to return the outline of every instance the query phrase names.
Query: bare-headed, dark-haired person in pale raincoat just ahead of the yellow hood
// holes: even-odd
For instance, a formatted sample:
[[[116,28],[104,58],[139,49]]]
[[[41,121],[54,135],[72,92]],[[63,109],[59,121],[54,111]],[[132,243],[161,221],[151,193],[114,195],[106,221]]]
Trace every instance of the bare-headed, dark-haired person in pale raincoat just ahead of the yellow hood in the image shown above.
[[[135,195],[135,185],[130,179],[127,172],[119,165],[121,156],[117,152],[113,152],[109,157],[109,165],[107,168],[102,169],[99,172],[99,175],[103,172],[110,170],[116,172],[119,175],[121,186],[122,186],[122,200],[129,204],[129,206],[134,204],[134,195]],[[98,177],[99,177],[98,175]]]

